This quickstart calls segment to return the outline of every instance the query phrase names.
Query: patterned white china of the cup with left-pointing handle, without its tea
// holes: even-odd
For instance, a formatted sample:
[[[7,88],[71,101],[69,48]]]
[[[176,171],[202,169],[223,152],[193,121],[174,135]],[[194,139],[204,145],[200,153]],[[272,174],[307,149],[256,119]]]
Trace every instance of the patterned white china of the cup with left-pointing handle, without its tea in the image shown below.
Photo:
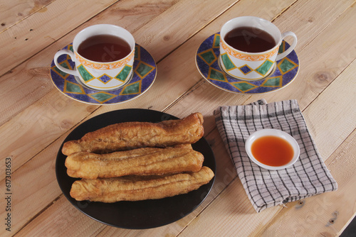
[[[130,53],[115,61],[110,61],[111,56],[115,56],[117,51],[113,48],[105,48],[105,53],[101,56],[106,62],[89,60],[78,53],[78,48],[84,40],[95,35],[114,35],[125,40],[130,45]],[[69,70],[58,63],[58,57],[69,55],[75,62],[75,70]],[[73,40],[73,52],[70,50],[59,50],[54,56],[54,63],[59,70],[74,75],[80,79],[85,86],[96,90],[112,90],[122,87],[132,75],[132,65],[135,60],[135,39],[132,34],[121,28],[109,24],[89,26],[83,29]]]

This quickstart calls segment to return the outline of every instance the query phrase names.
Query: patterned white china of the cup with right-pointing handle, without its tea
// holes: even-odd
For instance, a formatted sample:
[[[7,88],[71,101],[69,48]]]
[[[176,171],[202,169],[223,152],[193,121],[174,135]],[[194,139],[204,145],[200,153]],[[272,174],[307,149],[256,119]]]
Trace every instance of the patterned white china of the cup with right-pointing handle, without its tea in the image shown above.
[[[244,35],[245,40],[258,37],[261,31],[268,33],[274,39],[274,46],[263,52],[250,53],[231,47],[224,39],[226,34],[236,28],[253,28],[254,32]],[[286,36],[294,38],[292,45],[285,52],[278,55],[278,49]],[[246,36],[246,37],[245,37]],[[248,42],[247,42],[248,43]],[[297,36],[293,32],[281,33],[277,26],[270,21],[255,16],[241,16],[227,21],[220,31],[219,64],[226,74],[236,79],[254,81],[267,77],[273,70],[276,61],[286,57],[297,44]]]

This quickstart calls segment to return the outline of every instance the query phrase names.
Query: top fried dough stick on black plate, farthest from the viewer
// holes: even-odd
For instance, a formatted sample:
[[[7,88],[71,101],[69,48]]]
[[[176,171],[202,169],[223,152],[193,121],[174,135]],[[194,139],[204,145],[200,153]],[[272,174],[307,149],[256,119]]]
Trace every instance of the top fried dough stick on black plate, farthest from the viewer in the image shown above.
[[[87,133],[79,140],[69,140],[63,144],[62,153],[70,155],[87,151],[102,154],[143,147],[167,147],[195,143],[203,135],[203,116],[200,113],[159,123],[116,123]]]

